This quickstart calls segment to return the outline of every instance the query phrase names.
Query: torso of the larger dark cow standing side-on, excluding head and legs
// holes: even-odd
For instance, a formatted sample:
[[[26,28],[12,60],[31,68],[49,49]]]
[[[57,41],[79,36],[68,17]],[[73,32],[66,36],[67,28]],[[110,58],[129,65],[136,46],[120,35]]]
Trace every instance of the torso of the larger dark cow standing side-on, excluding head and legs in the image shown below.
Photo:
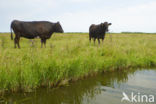
[[[49,35],[54,30],[53,23],[48,21],[32,21],[24,22],[14,20],[11,23],[11,28],[15,34],[19,34],[21,37],[33,39],[37,36],[49,38]]]

